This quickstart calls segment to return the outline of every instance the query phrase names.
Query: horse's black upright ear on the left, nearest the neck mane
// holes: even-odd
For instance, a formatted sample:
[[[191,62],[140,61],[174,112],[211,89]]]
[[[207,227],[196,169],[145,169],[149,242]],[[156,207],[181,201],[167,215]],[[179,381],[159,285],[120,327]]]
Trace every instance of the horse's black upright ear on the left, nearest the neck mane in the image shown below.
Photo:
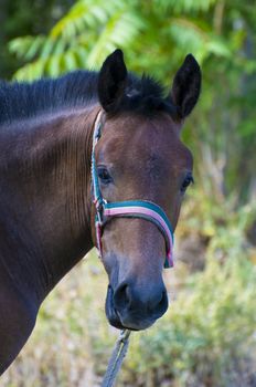
[[[127,69],[121,50],[114,51],[105,62],[98,76],[98,97],[106,112],[115,112],[125,95]]]

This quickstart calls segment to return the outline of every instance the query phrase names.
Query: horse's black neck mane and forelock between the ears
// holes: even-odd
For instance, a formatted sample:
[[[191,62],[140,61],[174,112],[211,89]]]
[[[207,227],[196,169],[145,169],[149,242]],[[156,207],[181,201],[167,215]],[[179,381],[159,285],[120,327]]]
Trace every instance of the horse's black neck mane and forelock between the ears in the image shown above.
[[[1,81],[0,124],[93,105],[98,101],[97,80],[97,72],[75,71],[32,83]],[[166,111],[175,114],[171,98],[164,98],[163,87],[152,77],[129,74],[126,94],[118,112],[151,115],[156,111]]]

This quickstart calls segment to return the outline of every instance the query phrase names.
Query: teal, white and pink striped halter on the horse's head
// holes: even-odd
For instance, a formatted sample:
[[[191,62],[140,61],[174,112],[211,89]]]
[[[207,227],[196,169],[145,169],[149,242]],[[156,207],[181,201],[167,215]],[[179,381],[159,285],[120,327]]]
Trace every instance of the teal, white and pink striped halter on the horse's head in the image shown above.
[[[96,239],[97,248],[99,251],[99,257],[103,257],[102,251],[102,236],[103,230],[106,223],[111,218],[142,218],[152,222],[159,231],[162,233],[166,240],[166,261],[164,268],[173,266],[172,250],[173,250],[173,231],[171,223],[166,215],[166,212],[151,201],[148,200],[129,200],[129,201],[116,201],[107,202],[100,191],[98,174],[95,160],[95,147],[97,142],[102,136],[102,115],[103,112],[99,112],[94,125],[94,136],[93,136],[93,151],[92,151],[92,186],[93,186],[93,197],[94,205],[96,208],[95,217],[95,229],[96,229]]]

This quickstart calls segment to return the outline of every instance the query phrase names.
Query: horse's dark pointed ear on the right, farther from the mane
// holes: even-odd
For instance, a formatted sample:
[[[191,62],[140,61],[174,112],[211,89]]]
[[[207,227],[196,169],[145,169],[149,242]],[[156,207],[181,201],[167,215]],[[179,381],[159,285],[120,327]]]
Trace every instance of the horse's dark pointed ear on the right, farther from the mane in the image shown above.
[[[178,70],[171,90],[171,97],[181,118],[185,118],[195,106],[201,90],[201,70],[192,54],[185,56]]]

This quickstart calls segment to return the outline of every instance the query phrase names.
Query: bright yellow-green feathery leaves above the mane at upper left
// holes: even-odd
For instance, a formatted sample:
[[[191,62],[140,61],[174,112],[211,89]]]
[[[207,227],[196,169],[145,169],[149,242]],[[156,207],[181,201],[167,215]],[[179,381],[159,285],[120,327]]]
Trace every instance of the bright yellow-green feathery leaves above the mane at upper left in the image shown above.
[[[10,50],[24,60],[18,80],[33,80],[43,74],[56,76],[77,67],[99,65],[116,46],[130,46],[143,21],[122,1],[81,0],[61,19],[47,36],[35,39],[28,54],[31,36],[10,42]],[[97,44],[95,44],[97,42]]]

